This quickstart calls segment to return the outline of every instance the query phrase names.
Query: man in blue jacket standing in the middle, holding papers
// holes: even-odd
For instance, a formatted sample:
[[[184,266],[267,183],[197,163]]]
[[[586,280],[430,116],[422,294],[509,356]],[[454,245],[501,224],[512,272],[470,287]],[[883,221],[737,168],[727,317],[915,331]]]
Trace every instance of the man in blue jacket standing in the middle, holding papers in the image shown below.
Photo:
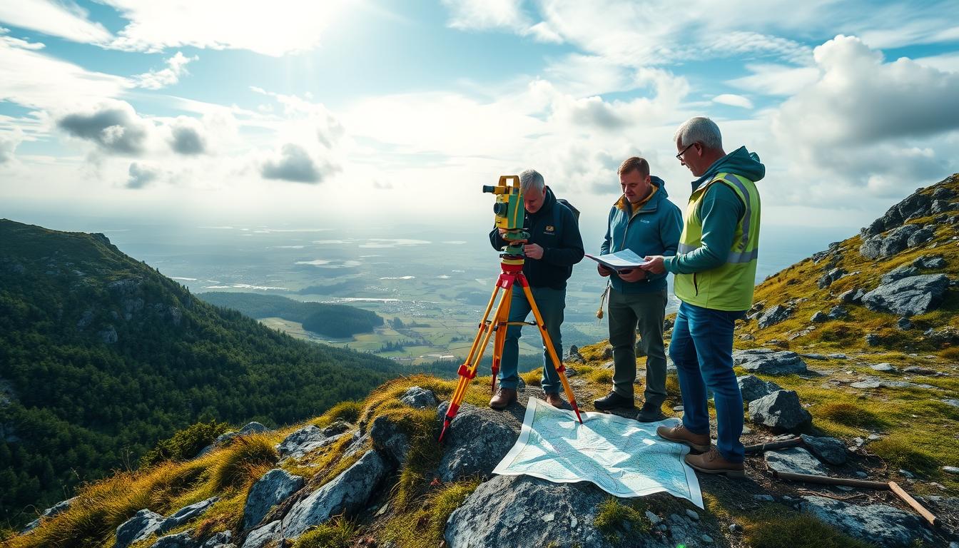
[[[683,230],[679,207],[667,200],[663,179],[650,177],[649,163],[637,156],[620,165],[622,196],[609,211],[606,238],[600,254],[632,250],[637,255],[673,255]],[[665,418],[666,352],[663,321],[666,317],[666,274],[642,269],[613,272],[597,265],[599,275],[610,276],[609,344],[613,345],[613,390],[593,402],[600,411],[635,407],[636,332],[646,354],[646,383],[639,420]],[[637,326],[639,329],[637,329]]]

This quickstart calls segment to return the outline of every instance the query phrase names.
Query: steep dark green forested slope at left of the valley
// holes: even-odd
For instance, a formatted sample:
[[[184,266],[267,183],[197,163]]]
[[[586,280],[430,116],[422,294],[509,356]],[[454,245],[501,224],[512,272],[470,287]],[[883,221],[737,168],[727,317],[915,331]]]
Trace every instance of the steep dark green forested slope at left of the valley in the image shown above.
[[[102,234],[0,220],[0,520],[13,526],[190,424],[292,423],[409,371],[208,304]]]

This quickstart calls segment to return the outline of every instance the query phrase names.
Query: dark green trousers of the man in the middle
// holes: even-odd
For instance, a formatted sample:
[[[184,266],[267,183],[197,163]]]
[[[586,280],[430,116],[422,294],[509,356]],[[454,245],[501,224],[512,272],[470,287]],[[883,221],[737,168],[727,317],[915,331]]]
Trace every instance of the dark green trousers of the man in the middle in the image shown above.
[[[652,293],[620,293],[609,290],[609,344],[613,345],[613,391],[633,397],[636,382],[636,332],[646,354],[648,404],[666,401],[666,352],[663,349],[663,321],[666,319],[667,290]]]

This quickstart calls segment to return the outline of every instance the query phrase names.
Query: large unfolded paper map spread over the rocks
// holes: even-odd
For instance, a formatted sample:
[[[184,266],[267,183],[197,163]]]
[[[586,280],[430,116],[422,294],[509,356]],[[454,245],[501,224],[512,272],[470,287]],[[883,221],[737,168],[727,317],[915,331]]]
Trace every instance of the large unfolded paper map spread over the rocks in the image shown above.
[[[593,482],[618,497],[667,491],[703,508],[696,474],[683,462],[690,448],[656,435],[676,418],[639,422],[604,413],[556,409],[530,397],[520,439],[493,470],[555,483]]]

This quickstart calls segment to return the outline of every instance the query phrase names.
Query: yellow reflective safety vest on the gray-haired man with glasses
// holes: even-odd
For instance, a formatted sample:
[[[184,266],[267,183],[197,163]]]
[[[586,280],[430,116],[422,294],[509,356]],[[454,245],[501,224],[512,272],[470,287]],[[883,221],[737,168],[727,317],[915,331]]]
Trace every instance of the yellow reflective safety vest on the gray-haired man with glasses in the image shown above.
[[[700,203],[713,184],[729,185],[745,205],[746,211],[736,227],[726,262],[708,271],[676,274],[676,297],[683,302],[714,310],[748,310],[753,305],[756,262],[760,251],[760,193],[756,183],[735,174],[718,173],[697,188],[686,207],[686,223],[679,237],[676,254],[689,253],[702,246]]]

